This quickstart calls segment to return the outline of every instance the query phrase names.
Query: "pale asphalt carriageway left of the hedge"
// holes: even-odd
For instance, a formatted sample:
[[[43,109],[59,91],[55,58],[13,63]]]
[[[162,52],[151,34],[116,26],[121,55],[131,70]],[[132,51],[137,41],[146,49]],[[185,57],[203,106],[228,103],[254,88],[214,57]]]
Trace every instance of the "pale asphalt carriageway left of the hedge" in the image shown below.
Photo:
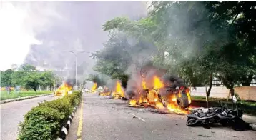
[[[24,115],[39,102],[56,98],[54,95],[49,95],[1,104],[1,140],[16,140],[18,125],[19,122],[24,121]]]

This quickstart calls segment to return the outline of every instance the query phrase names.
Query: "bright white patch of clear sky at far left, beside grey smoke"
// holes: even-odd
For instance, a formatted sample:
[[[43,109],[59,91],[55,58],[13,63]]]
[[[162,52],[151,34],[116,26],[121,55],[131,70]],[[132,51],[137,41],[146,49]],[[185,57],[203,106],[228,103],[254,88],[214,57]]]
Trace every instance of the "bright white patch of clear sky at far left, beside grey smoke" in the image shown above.
[[[11,64],[21,64],[31,44],[41,44],[34,33],[26,29],[24,20],[27,12],[15,8],[10,2],[1,1],[0,9],[0,69],[6,70]]]

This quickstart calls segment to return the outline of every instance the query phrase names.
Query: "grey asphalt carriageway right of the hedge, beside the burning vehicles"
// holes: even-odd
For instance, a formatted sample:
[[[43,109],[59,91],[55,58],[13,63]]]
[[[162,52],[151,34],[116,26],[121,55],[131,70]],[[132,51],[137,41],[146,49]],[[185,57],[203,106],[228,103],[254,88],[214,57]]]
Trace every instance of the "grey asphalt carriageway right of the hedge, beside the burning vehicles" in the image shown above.
[[[81,105],[69,129],[68,140],[164,140],[164,139],[255,139],[255,131],[234,131],[223,126],[211,129],[186,126],[186,116],[159,114],[154,109],[137,109],[127,101],[108,99],[96,94],[83,95]],[[79,116],[82,113],[82,137],[77,136]],[[132,114],[139,116],[138,119]]]

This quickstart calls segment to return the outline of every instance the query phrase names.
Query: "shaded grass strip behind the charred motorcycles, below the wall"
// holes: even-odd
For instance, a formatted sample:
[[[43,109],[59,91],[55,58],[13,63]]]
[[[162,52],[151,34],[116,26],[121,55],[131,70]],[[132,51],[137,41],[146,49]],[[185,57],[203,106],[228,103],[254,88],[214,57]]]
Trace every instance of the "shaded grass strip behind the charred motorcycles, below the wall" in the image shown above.
[[[227,99],[217,99],[217,98],[210,98],[209,99],[209,106],[210,107],[216,107],[216,106],[220,106],[220,105],[225,105],[227,104],[227,106],[232,109],[232,101],[231,99],[229,99],[229,101],[227,101]],[[205,100],[205,96],[192,96],[192,106],[203,106],[203,107],[207,107],[207,102]],[[235,107],[235,104],[234,104]],[[237,101],[237,107],[242,109],[242,111],[244,112],[244,114],[250,114],[253,116],[256,116],[256,101]]]

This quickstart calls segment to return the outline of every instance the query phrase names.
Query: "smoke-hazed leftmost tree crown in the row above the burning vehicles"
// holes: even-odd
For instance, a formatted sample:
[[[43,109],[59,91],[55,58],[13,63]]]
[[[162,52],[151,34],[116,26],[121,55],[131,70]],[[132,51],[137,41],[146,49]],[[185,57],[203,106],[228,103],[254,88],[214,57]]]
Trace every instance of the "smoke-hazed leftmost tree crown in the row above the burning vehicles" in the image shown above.
[[[149,46],[154,48],[152,44],[143,41],[129,43],[129,38],[123,34],[111,34],[109,41],[104,45],[104,49],[92,54],[92,58],[97,59],[93,69],[110,76],[112,79],[121,80],[122,86],[126,88],[129,78],[127,69],[131,64],[137,63],[145,54],[148,54],[149,50],[153,50],[149,49]]]

